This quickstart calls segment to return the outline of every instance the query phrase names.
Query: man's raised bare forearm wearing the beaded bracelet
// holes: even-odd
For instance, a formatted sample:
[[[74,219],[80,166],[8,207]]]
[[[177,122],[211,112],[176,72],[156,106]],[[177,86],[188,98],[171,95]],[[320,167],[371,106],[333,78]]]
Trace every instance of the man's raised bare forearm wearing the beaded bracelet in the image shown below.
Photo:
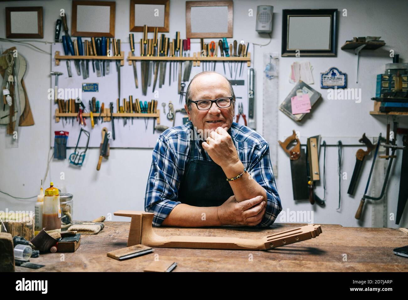
[[[227,178],[234,178],[244,171],[244,164],[241,161],[233,165],[228,165],[222,168]],[[267,201],[266,192],[261,185],[250,177],[249,172],[242,174],[241,178],[228,181],[231,189],[234,192],[235,200],[241,202],[254,198],[256,196],[264,196],[264,201]]]

